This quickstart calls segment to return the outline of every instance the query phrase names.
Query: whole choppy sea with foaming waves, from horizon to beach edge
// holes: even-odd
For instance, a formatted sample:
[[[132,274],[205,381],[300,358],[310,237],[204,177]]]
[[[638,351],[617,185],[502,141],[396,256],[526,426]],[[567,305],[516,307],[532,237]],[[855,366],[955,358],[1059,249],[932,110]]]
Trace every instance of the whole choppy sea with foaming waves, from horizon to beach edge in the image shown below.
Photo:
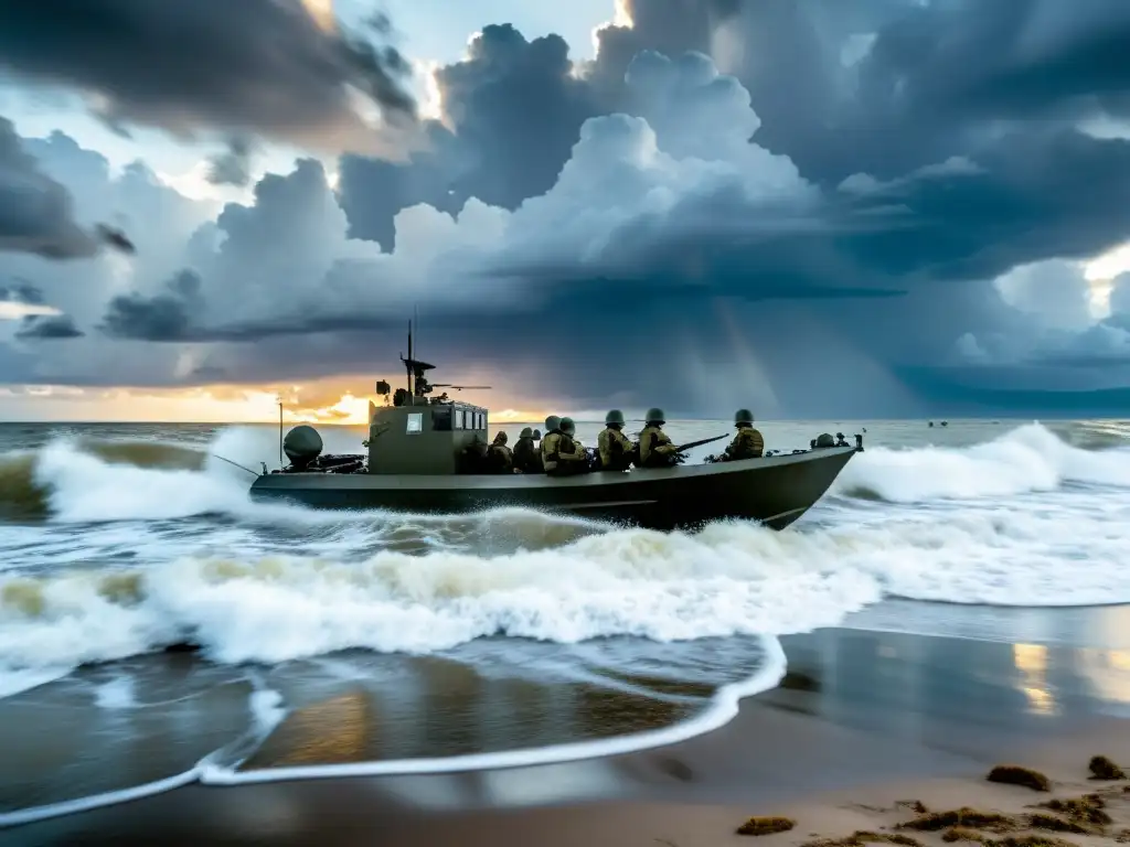
[[[660,534],[252,504],[217,456],[277,465],[272,427],[0,425],[0,749],[18,762],[0,824],[193,780],[636,749],[775,686],[781,636],[1007,640],[1019,608],[1130,602],[1130,422],[759,427],[786,449],[866,430],[867,451],[784,532]],[[360,452],[359,430],[321,431]]]

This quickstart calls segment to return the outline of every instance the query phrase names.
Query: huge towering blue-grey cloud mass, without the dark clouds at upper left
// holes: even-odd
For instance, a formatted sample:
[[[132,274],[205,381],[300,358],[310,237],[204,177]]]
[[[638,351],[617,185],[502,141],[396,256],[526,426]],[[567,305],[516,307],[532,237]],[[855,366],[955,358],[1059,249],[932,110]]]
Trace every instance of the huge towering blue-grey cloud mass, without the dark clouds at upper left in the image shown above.
[[[1130,143],[1078,125],[1127,86],[1071,61],[1122,12],[1008,6],[629,2],[580,64],[485,27],[437,75],[427,150],[344,156],[337,190],[303,159],[215,215],[53,137],[81,219],[129,182],[119,211],[169,226],[81,290],[11,269],[98,330],[8,373],[92,384],[107,351],[130,384],[370,373],[418,304],[441,364],[576,408],[1095,413],[1114,395],[1080,396],[1130,378],[1130,295],[1099,320],[1080,262],[1130,238]],[[217,181],[243,178],[229,152]]]

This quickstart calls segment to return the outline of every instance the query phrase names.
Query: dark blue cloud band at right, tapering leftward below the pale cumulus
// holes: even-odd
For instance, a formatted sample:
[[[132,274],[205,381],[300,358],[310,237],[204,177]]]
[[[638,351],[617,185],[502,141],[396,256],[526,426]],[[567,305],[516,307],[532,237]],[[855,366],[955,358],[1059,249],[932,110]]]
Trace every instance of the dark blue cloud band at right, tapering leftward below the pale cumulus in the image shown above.
[[[983,165],[981,164],[983,163]],[[567,286],[608,307],[698,294],[744,299],[859,296],[988,280],[1016,264],[1094,256],[1130,235],[1130,142],[1072,131],[1011,134],[976,168],[843,192],[790,225],[736,192],[692,194],[610,234],[596,257],[528,259],[488,273]]]

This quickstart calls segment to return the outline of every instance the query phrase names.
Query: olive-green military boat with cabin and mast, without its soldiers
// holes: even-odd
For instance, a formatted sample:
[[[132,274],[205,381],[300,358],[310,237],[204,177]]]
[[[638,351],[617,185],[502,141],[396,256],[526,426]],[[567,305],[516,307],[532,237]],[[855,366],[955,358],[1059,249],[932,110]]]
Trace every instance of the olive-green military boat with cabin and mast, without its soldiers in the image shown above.
[[[308,426],[282,439],[289,465],[257,474],[255,499],[290,500],[318,508],[382,509],[412,514],[467,514],[505,506],[670,531],[710,521],[742,518],[782,530],[807,512],[847,461],[863,449],[831,436],[809,449],[734,462],[662,469],[594,471],[571,477],[481,473],[469,456],[487,445],[488,410],[429,398],[433,365],[402,355],[408,387],[376,384],[384,405],[368,404],[367,454],[322,455]],[[469,387],[469,386],[463,386]],[[391,396],[390,396],[391,394]],[[281,437],[281,426],[279,430]],[[707,439],[712,440],[712,439]]]

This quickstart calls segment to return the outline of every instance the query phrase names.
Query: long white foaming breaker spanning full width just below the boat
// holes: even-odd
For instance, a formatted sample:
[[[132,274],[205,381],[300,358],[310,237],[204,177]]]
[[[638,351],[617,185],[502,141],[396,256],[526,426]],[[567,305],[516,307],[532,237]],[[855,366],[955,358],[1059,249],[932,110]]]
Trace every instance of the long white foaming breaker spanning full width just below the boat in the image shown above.
[[[0,573],[0,675],[171,645],[278,663],[347,648],[432,653],[504,635],[683,640],[834,626],[883,596],[996,605],[1130,601],[1130,498],[861,510],[777,533],[606,532],[503,556],[181,557],[130,570]],[[1071,566],[1064,567],[1070,560]]]

